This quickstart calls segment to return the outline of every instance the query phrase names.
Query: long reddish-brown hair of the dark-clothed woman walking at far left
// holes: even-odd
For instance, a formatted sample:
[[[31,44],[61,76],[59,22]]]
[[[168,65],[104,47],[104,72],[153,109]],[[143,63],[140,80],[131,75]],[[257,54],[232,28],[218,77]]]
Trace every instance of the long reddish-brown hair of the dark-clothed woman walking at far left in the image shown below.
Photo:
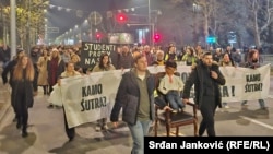
[[[24,72],[24,68],[22,66],[23,59],[27,58],[27,64],[25,68],[25,76],[23,76]],[[19,59],[14,71],[13,71],[13,80],[15,81],[22,81],[22,80],[28,80],[28,81],[33,81],[34,80],[34,67],[33,67],[33,62],[32,59],[27,56],[23,56]]]

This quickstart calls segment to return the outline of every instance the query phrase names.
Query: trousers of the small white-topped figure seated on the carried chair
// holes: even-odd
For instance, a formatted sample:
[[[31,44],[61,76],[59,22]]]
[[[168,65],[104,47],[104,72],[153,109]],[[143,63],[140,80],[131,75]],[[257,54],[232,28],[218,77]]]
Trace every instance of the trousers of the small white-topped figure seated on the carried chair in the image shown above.
[[[166,98],[170,104],[170,107],[173,109],[179,109],[179,108],[183,108],[185,105],[180,98],[180,95],[177,91],[170,91],[166,94]]]

